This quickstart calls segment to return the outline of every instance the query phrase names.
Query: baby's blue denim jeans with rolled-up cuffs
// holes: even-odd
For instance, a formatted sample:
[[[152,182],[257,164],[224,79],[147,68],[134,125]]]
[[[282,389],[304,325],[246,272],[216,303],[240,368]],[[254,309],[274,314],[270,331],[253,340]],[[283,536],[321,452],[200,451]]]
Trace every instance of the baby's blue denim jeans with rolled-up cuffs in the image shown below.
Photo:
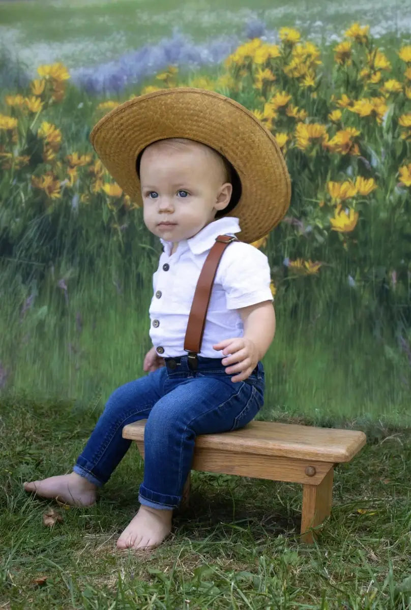
[[[165,366],[130,381],[107,400],[74,472],[101,486],[128,450],[128,423],[146,419],[144,480],[139,501],[173,509],[180,504],[191,470],[195,437],[242,428],[263,406],[261,362],[245,380],[232,382],[218,358],[198,356],[192,370],[187,356],[165,358]]]

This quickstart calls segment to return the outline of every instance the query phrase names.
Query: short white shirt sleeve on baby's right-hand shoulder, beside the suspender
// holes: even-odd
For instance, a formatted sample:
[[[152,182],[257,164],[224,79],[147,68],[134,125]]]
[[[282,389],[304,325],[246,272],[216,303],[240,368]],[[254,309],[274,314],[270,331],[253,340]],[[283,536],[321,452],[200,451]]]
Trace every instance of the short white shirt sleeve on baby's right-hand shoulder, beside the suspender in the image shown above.
[[[249,243],[233,242],[225,250],[222,262],[219,279],[227,309],[274,301],[268,259],[260,250]]]

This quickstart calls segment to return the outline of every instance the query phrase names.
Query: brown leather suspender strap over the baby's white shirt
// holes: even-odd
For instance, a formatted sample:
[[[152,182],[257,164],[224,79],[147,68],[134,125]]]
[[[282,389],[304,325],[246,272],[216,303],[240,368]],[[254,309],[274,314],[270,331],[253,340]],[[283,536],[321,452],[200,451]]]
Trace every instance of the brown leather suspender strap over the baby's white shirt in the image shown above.
[[[186,337],[184,339],[184,351],[188,351],[188,362],[191,368],[197,368],[197,354],[203,340],[203,332],[206,321],[206,313],[213,289],[214,278],[219,266],[222,254],[231,242],[238,242],[231,235],[218,235],[216,243],[208,253],[203,268],[195,287],[194,298],[191,304],[190,315],[187,323]]]

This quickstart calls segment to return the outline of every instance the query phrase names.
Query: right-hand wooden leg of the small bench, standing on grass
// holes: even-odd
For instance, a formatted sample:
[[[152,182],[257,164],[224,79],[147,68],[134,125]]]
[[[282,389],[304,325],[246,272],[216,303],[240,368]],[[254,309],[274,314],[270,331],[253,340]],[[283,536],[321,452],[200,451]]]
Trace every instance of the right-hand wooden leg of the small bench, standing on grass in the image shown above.
[[[331,512],[334,469],[330,468],[319,485],[302,486],[301,542],[314,542],[316,528]]]

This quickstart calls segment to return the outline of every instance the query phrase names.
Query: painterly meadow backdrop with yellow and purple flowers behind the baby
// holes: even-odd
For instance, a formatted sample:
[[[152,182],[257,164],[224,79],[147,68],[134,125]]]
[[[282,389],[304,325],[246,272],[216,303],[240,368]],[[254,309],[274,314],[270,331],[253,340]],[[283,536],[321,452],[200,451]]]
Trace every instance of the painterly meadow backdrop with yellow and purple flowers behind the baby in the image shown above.
[[[262,416],[409,425],[411,9],[369,6],[1,2],[4,395],[87,409],[143,374],[159,243],[88,135],[188,84],[253,110],[293,180],[256,244],[277,311]]]

